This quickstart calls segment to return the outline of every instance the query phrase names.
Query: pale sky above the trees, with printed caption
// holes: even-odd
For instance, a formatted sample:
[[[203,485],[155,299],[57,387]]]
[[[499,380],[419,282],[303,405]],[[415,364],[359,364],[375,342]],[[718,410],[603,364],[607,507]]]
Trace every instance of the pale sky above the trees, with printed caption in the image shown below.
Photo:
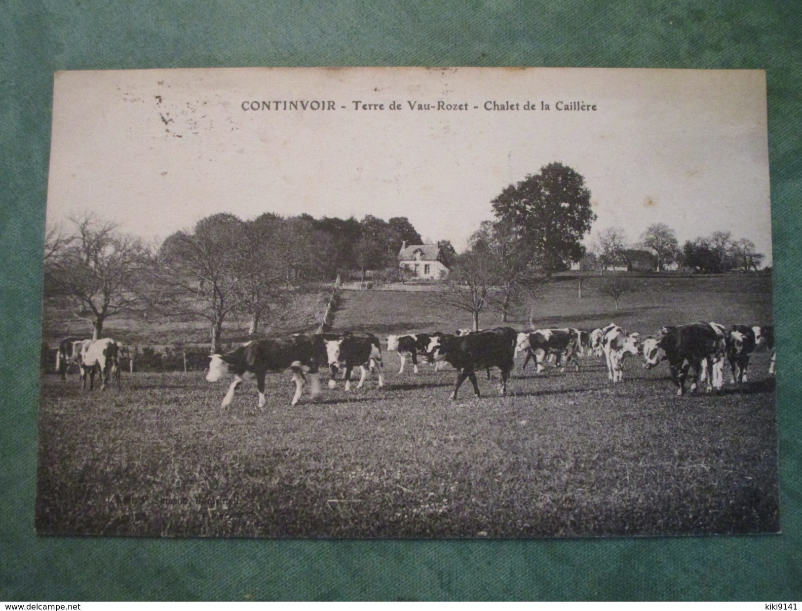
[[[554,161],[585,178],[593,235],[730,231],[772,264],[763,71],[59,72],[47,221],[93,212],[160,241],[217,212],[407,216],[461,250]]]

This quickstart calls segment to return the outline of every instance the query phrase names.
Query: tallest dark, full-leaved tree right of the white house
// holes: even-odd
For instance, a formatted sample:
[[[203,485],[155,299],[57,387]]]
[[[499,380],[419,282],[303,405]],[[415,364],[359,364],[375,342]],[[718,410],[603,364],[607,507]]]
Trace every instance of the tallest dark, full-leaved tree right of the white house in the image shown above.
[[[492,206],[496,219],[520,228],[549,276],[584,256],[581,240],[596,220],[585,179],[559,163],[504,188]]]

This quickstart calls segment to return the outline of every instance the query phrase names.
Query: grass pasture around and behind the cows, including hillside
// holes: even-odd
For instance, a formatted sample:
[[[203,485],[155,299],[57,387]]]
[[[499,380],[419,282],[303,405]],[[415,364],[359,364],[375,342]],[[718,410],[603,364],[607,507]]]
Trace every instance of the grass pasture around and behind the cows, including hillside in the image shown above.
[[[707,282],[705,282],[707,280]],[[672,278],[622,301],[555,283],[539,326],[631,330],[771,321],[767,277]],[[744,288],[745,287],[745,288]],[[379,334],[464,326],[421,293],[346,292],[339,329]],[[467,318],[467,317],[464,317]],[[489,316],[482,323],[495,325]],[[512,326],[523,326],[512,322]],[[678,398],[665,365],[603,359],[578,373],[520,366],[509,395],[479,375],[448,400],[453,370],[375,378],[290,407],[290,374],[268,403],[203,374],[132,374],[81,393],[42,377],[36,526],[43,533],[144,536],[599,536],[774,532],[779,528],[774,381],[755,353],[750,382]],[[781,364],[780,364],[781,366]],[[325,386],[325,385],[324,385]]]

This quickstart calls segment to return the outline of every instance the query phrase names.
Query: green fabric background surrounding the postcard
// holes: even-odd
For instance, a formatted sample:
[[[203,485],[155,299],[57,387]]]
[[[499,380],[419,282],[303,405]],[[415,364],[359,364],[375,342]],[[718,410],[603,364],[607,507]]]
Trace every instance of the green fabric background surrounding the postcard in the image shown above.
[[[0,599],[802,598],[802,3],[0,0]],[[574,66],[768,71],[780,536],[134,540],[34,536],[57,70]]]

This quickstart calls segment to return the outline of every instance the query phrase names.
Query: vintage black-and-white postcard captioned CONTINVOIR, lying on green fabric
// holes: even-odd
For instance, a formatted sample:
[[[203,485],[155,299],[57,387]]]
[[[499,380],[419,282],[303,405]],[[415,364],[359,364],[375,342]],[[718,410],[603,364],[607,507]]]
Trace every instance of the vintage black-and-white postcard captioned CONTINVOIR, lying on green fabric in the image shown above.
[[[37,532],[780,530],[763,71],[55,75]]]

